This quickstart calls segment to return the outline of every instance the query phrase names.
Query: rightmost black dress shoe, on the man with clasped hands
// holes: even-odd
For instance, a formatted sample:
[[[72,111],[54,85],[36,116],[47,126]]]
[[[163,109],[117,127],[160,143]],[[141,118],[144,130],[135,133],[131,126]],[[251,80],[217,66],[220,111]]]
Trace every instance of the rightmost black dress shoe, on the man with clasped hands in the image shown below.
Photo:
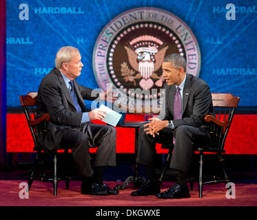
[[[179,184],[175,184],[172,188],[158,193],[156,197],[160,199],[183,199],[190,198],[190,194],[187,186],[181,187]]]

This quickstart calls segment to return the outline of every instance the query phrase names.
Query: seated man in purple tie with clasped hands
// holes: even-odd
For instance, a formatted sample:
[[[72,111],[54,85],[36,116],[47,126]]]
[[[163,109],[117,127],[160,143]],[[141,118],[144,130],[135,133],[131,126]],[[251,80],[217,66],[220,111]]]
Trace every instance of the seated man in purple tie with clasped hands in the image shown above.
[[[209,86],[200,78],[186,73],[185,58],[170,54],[163,61],[165,104],[160,115],[143,125],[139,132],[136,162],[146,165],[147,178],[143,188],[132,196],[156,195],[158,198],[188,198],[187,175],[194,153],[194,144],[207,144],[209,127],[204,116],[214,115]],[[160,192],[160,183],[154,172],[155,144],[174,144],[170,168],[178,170],[178,182]]]

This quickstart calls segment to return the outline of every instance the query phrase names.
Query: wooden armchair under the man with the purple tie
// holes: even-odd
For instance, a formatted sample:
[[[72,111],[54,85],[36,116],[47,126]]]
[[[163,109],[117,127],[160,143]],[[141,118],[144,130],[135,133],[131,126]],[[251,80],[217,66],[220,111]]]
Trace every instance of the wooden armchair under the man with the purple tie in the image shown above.
[[[199,198],[203,197],[203,185],[204,184],[216,184],[220,182],[229,182],[227,173],[225,171],[224,159],[222,154],[225,153],[225,140],[229,132],[229,128],[232,124],[234,113],[236,107],[238,107],[240,98],[233,96],[232,94],[212,94],[212,103],[216,109],[218,115],[214,118],[212,115],[205,115],[205,122],[209,122],[209,135],[211,137],[211,143],[208,146],[195,146],[195,152],[199,153],[199,178],[198,178],[198,190]],[[167,159],[165,165],[163,166],[163,171],[160,177],[160,181],[163,181],[163,175],[165,174],[165,169],[167,164],[169,164],[172,157],[173,146],[169,147],[169,152],[167,153]],[[203,155],[204,153],[216,153],[218,157],[218,162],[223,171],[224,179],[217,179],[215,176],[212,181],[203,181]],[[194,178],[189,179],[190,190],[193,190]]]

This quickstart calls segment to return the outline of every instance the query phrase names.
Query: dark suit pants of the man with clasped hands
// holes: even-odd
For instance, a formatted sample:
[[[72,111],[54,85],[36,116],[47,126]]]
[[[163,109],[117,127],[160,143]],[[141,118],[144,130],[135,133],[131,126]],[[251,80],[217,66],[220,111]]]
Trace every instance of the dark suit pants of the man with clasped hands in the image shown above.
[[[143,129],[142,125],[139,130],[138,153],[136,156],[138,164],[153,164],[154,154],[156,153],[155,144],[172,144],[173,135],[175,135],[176,142],[169,167],[189,172],[194,146],[203,146],[209,143],[209,135],[195,126],[181,125],[175,130],[165,128],[159,131],[159,135],[156,135],[156,137],[147,135]]]

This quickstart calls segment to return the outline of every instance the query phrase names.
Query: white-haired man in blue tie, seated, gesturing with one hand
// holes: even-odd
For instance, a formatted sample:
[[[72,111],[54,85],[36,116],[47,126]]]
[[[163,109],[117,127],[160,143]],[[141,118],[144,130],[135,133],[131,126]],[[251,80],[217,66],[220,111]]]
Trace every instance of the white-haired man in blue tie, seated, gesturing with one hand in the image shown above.
[[[61,47],[56,54],[55,68],[47,74],[39,86],[37,113],[49,113],[47,133],[43,137],[45,152],[52,154],[58,148],[72,148],[72,158],[83,181],[81,193],[90,195],[115,195],[103,184],[106,166],[116,166],[116,129],[112,126],[94,124],[105,112],[100,109],[88,111],[85,100],[106,100],[107,92],[94,91],[76,83],[83,63],[75,47]],[[89,148],[98,147],[94,171],[90,162]]]

